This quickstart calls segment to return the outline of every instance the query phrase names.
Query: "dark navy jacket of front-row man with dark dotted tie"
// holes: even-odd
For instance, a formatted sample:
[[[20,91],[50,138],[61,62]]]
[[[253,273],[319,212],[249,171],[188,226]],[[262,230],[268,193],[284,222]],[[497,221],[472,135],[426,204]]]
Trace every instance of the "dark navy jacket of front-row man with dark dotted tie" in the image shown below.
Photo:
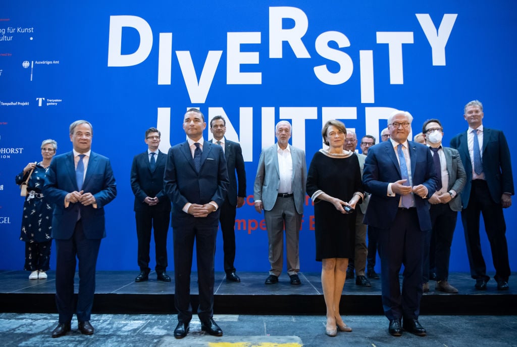
[[[187,203],[203,205],[215,201],[221,207],[230,184],[223,149],[208,141],[203,143],[199,172],[195,170],[187,141],[171,147],[163,179],[165,192],[172,202],[173,228],[183,225],[186,218],[192,217],[183,212]],[[219,223],[219,211],[209,214],[206,219]]]

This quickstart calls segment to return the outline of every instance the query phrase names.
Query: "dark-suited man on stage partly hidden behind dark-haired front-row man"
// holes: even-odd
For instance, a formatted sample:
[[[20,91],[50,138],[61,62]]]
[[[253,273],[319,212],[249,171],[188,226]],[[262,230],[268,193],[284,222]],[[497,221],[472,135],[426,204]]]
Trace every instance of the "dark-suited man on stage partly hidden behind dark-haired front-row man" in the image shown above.
[[[242,158],[240,145],[224,137],[226,133],[226,120],[223,116],[215,116],[210,120],[210,131],[214,135],[211,142],[217,143],[223,148],[226,167],[228,168],[228,177],[230,178],[226,199],[224,199],[224,204],[221,206],[221,215],[219,216],[221,232],[223,234],[224,272],[226,273],[227,281],[240,282],[239,276],[235,273],[234,266],[235,215],[236,208],[242,207],[246,199],[244,158]],[[235,177],[235,172],[237,172],[237,177]],[[237,178],[239,181],[238,192]]]

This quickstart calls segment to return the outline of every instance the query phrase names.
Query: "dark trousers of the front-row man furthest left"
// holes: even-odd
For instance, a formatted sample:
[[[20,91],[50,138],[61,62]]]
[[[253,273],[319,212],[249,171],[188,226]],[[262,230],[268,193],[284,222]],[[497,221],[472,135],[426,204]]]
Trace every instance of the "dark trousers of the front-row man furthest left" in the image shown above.
[[[100,239],[87,239],[83,223],[75,224],[73,235],[68,240],[56,242],[56,306],[59,323],[69,323],[73,313],[79,322],[90,320],[95,293],[95,267],[99,254]],[[75,257],[79,260],[79,294],[77,304],[73,296]]]

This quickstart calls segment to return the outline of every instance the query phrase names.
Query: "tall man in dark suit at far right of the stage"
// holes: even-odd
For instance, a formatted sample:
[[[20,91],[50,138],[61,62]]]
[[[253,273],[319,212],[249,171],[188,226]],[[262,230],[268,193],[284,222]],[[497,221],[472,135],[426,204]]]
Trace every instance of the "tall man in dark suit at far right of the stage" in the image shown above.
[[[503,131],[483,128],[483,104],[478,100],[465,105],[463,117],[468,130],[451,140],[465,165],[467,183],[461,201],[461,220],[467,244],[470,276],[476,280],[475,288],[486,290],[486,265],[479,239],[479,216],[483,214],[494,261],[498,290],[508,290],[510,263],[506,242],[506,223],[503,208],[512,204],[513,175],[510,149]]]

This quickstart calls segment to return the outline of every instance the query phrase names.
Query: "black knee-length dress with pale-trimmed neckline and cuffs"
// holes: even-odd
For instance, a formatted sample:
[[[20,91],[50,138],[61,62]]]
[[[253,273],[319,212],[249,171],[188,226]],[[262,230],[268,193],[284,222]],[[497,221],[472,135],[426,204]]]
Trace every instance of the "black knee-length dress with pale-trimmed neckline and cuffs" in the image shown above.
[[[356,192],[362,197],[361,169],[355,154],[346,151],[331,155],[321,149],[314,154],[307,175],[307,193],[314,200],[316,261],[353,258],[356,213],[342,214],[331,203],[317,198],[321,192],[345,202]]]

